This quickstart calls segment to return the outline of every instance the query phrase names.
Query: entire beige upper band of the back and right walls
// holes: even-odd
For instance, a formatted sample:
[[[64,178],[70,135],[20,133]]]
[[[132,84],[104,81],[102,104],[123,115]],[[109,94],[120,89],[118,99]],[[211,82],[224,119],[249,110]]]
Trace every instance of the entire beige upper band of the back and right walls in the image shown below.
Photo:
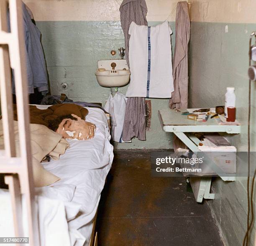
[[[120,20],[122,0],[23,0],[36,20]],[[188,0],[191,20],[256,23],[256,0]],[[175,20],[177,0],[146,0],[148,21]],[[173,11],[174,10],[174,11]]]

